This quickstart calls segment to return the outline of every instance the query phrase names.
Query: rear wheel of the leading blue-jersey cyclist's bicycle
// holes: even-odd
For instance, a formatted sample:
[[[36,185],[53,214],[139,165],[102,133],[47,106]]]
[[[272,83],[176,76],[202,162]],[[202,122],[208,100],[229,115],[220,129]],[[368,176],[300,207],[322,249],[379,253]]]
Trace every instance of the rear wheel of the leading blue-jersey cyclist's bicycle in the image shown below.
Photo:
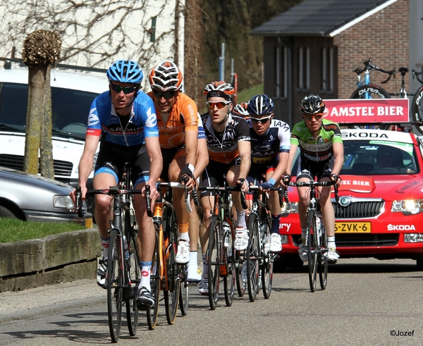
[[[127,216],[128,214],[128,216]],[[125,220],[130,218],[129,212],[125,213]],[[140,261],[137,249],[137,233],[129,222],[125,222],[126,239],[128,242],[128,258],[126,258],[126,271],[128,273],[128,289],[130,297],[125,297],[126,320],[128,321],[128,329],[131,336],[135,336],[138,326],[137,309],[137,288],[140,283]]]

